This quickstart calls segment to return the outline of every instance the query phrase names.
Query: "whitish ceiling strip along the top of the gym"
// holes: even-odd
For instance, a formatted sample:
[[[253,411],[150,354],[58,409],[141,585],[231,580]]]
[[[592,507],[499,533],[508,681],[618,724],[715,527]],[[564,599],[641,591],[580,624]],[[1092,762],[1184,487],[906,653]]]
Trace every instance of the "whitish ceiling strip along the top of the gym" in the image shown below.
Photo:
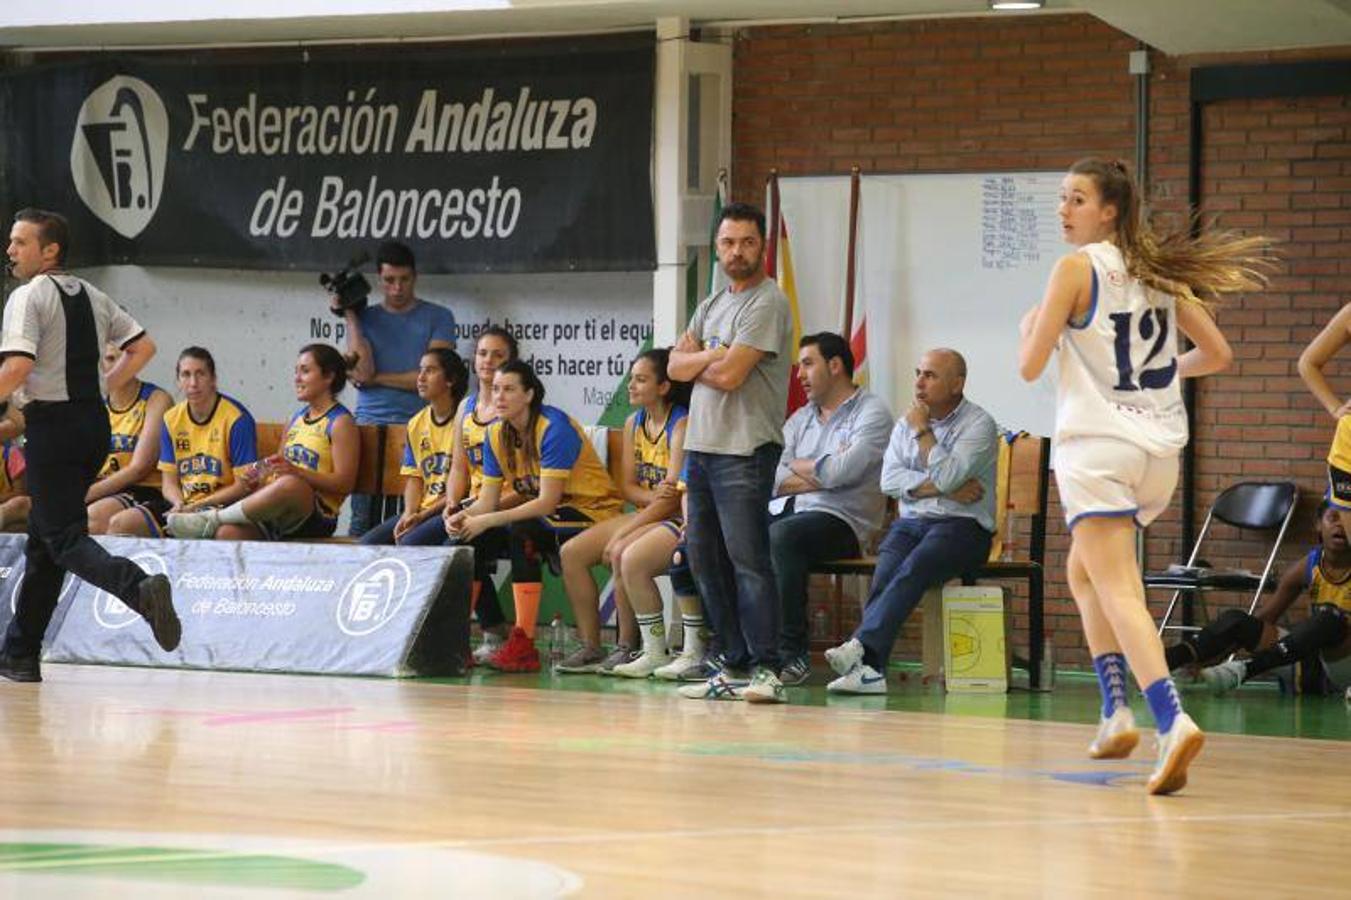
[[[0,8],[0,47],[467,38],[990,14],[986,0],[49,0]],[[1351,45],[1351,0],[1047,0],[1169,54]],[[1039,14],[1031,14],[1039,15]]]

